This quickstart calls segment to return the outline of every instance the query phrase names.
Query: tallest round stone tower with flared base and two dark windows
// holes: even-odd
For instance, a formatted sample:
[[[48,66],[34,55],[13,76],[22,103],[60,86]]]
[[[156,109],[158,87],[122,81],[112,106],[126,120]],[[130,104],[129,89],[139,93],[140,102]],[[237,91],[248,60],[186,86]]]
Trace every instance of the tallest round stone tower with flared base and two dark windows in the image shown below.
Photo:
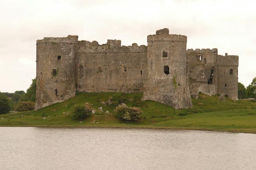
[[[192,107],[186,74],[184,35],[170,35],[169,29],[148,35],[148,79],[144,100],[157,101],[179,108]]]

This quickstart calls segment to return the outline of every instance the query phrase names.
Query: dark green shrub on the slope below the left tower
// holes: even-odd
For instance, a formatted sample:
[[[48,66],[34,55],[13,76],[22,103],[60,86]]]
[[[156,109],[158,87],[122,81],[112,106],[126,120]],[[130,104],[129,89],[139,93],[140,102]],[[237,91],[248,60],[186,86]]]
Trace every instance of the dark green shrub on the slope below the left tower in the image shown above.
[[[84,106],[75,105],[73,110],[73,117],[83,120],[90,116],[90,113],[93,111],[93,108],[90,104],[84,104]]]

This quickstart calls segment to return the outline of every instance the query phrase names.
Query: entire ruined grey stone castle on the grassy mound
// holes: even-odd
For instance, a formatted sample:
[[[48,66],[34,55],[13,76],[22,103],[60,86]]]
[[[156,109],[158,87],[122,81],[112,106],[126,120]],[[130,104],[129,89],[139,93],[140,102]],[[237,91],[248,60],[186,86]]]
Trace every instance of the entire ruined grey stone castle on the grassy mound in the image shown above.
[[[176,109],[192,107],[199,92],[238,99],[237,55],[187,49],[187,37],[169,29],[148,35],[148,46],[121,40],[78,40],[76,35],[37,40],[35,109],[76,92],[143,92],[144,100]]]

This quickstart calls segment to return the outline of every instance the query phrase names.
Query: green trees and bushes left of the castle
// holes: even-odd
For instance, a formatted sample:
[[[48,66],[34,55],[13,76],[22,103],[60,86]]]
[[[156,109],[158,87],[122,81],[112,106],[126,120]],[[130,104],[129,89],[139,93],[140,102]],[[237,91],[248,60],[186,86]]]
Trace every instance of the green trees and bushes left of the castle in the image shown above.
[[[9,111],[27,111],[35,108],[36,80],[32,79],[32,84],[26,92],[23,90],[14,93],[0,92],[0,114]]]

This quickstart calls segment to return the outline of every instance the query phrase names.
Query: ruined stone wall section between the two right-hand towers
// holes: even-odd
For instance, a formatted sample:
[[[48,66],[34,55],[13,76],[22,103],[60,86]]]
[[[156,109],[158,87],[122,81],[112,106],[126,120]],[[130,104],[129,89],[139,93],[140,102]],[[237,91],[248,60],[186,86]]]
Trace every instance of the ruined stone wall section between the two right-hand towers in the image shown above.
[[[198,93],[215,95],[218,91],[217,49],[188,49],[187,73],[190,94],[198,98]]]

